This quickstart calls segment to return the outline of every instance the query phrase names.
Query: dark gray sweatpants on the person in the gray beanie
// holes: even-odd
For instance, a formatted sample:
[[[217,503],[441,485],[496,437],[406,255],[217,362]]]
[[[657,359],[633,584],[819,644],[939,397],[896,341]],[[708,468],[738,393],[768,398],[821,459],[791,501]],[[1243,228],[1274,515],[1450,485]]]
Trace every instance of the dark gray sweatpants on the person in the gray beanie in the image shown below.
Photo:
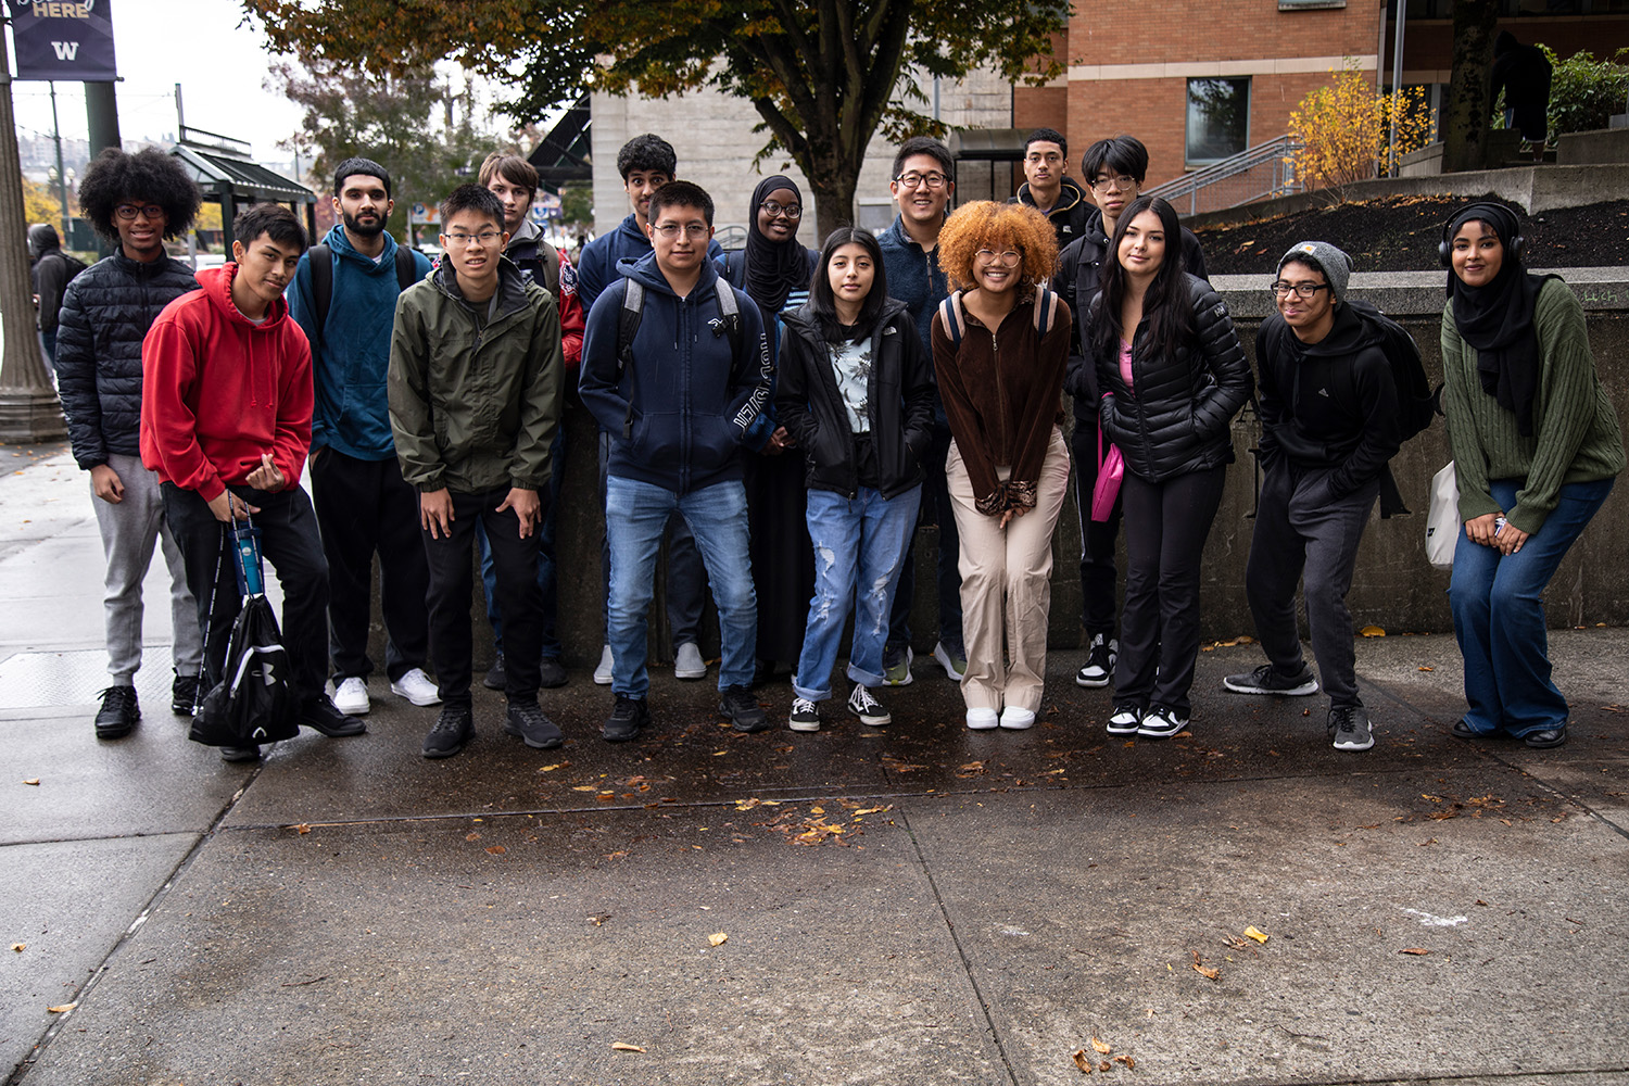
[[[1311,627],[1318,677],[1333,705],[1362,705],[1357,697],[1357,655],[1352,650],[1352,588],[1357,544],[1380,497],[1370,480],[1341,498],[1329,497],[1329,471],[1298,471],[1287,464],[1267,469],[1256,506],[1256,529],[1245,567],[1245,593],[1256,619],[1256,637],[1279,674],[1302,669],[1302,638],[1295,628],[1295,583],[1306,580],[1306,625]]]

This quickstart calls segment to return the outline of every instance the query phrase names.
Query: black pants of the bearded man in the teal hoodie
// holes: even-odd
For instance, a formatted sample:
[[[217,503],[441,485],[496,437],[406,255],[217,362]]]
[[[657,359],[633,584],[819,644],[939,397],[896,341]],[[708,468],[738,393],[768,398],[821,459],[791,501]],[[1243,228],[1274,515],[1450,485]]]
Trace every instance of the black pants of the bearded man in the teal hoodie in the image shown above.
[[[311,454],[311,501],[327,555],[327,633],[334,682],[373,672],[373,555],[380,555],[384,672],[391,682],[430,658],[425,594],[430,567],[419,542],[419,493],[396,458],[362,461],[337,449]]]

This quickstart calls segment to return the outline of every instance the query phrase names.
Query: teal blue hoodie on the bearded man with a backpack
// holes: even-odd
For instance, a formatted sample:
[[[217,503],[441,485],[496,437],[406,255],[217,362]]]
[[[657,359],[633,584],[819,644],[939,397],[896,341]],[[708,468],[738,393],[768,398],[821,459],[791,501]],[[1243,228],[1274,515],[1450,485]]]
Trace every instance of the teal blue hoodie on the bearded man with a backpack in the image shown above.
[[[384,388],[396,298],[401,295],[396,239],[384,234],[384,252],[378,262],[352,247],[344,226],[327,231],[323,243],[334,261],[334,298],[321,335],[310,252],[300,257],[295,280],[285,291],[288,316],[311,340],[311,378],[316,383],[311,451],[327,446],[360,461],[386,461],[396,456]],[[419,278],[424,278],[430,274],[430,259],[422,252],[412,256]]]

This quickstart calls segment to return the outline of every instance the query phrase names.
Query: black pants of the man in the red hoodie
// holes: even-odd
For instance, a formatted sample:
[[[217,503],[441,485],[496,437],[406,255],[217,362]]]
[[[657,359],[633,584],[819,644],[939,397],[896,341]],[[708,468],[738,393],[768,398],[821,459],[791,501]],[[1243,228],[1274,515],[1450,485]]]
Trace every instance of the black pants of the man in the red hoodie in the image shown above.
[[[261,555],[277,571],[283,586],[283,648],[293,668],[293,685],[301,700],[323,694],[327,676],[327,562],[318,537],[311,498],[300,487],[266,493],[252,487],[230,490],[259,508],[254,526],[261,529]],[[238,593],[236,547],[231,534],[195,490],[166,482],[165,519],[181,547],[187,588],[199,601],[199,628],[204,630],[204,664],[210,685],[220,682],[226,664],[231,622],[243,609]],[[210,606],[213,601],[213,607]]]

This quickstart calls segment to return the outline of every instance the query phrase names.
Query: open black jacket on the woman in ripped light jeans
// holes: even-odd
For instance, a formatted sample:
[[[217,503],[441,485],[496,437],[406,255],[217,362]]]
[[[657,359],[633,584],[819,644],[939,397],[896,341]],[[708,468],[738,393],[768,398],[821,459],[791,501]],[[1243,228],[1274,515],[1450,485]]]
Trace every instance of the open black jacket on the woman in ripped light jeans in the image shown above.
[[[775,415],[798,443],[810,490],[857,488],[854,430],[831,370],[826,337],[808,304],[784,313]],[[922,454],[933,435],[933,368],[906,303],[893,298],[872,332],[872,383],[867,396],[878,492],[894,498],[922,482]]]

